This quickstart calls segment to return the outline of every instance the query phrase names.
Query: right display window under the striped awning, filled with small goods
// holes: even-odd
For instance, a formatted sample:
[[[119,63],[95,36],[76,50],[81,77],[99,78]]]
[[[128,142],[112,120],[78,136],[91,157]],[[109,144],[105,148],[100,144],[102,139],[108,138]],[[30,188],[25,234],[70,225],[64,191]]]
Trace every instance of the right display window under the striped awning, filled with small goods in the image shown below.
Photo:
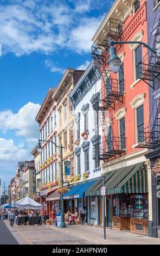
[[[149,218],[148,194],[131,194],[131,218]]]

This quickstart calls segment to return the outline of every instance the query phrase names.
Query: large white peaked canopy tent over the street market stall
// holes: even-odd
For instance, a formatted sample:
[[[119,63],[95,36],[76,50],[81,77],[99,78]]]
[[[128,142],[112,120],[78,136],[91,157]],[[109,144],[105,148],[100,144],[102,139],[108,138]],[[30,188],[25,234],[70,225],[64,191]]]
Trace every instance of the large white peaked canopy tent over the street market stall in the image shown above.
[[[15,202],[15,207],[18,209],[38,210],[38,209],[42,209],[43,206],[42,206],[42,204],[35,202],[30,197],[24,197],[21,200]]]

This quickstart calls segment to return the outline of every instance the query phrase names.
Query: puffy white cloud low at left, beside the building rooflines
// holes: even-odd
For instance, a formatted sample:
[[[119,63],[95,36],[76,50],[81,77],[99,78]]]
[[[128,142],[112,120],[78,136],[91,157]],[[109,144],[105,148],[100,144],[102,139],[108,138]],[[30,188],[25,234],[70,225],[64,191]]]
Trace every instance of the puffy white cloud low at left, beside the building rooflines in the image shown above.
[[[17,113],[11,110],[0,112],[0,129],[5,133],[8,130],[15,130],[17,136],[27,140],[36,138],[39,135],[39,126],[35,121],[39,104],[28,102]]]

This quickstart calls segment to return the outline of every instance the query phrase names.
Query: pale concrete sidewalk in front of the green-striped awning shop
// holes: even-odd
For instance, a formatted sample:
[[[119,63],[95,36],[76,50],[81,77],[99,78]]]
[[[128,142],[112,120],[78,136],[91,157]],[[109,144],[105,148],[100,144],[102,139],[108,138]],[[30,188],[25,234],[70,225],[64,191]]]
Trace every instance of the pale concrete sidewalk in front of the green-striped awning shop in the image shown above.
[[[89,225],[67,225],[64,229],[48,227],[98,245],[160,245],[160,239],[133,234],[129,230],[117,231],[106,228],[106,240],[104,240],[104,229],[100,227]]]

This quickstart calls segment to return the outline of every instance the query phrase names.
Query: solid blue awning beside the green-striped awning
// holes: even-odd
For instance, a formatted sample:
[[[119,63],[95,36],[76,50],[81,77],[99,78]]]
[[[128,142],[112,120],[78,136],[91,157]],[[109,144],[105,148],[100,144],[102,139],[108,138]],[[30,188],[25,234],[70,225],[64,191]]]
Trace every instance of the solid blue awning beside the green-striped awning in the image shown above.
[[[65,195],[64,199],[76,199],[76,198],[82,198],[85,197],[85,192],[88,190],[89,187],[91,187],[97,180],[91,180],[82,182],[78,185],[75,185],[71,188]]]

